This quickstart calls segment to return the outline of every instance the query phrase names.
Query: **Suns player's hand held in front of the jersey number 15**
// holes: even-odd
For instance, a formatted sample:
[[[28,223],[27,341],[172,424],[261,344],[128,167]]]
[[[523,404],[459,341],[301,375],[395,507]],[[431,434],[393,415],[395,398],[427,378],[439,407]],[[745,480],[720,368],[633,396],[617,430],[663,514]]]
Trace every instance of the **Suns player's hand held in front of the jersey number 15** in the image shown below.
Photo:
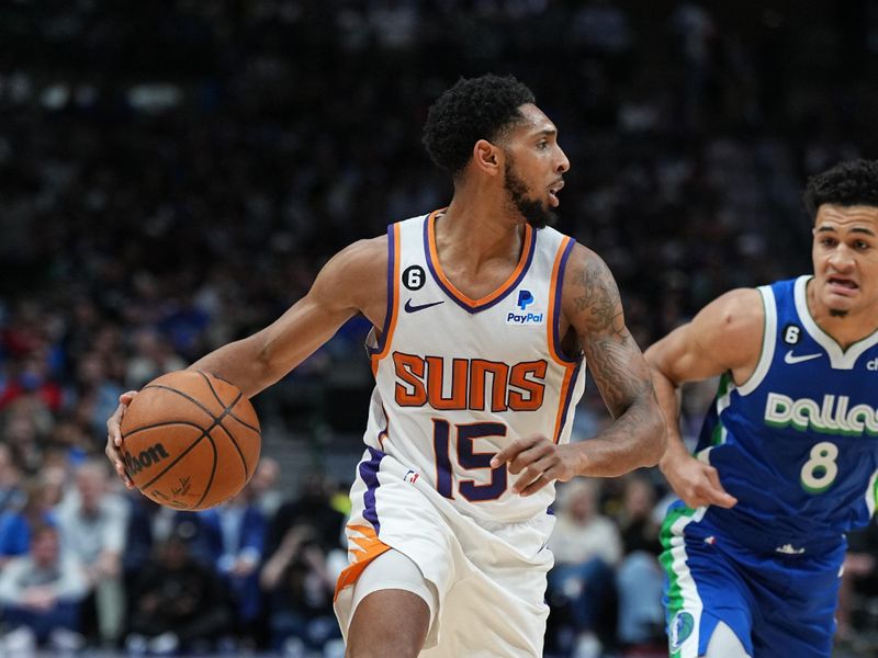
[[[491,467],[506,464],[509,473],[519,476],[513,494],[530,496],[552,480],[566,481],[576,474],[566,449],[540,435],[516,439],[492,457]]]

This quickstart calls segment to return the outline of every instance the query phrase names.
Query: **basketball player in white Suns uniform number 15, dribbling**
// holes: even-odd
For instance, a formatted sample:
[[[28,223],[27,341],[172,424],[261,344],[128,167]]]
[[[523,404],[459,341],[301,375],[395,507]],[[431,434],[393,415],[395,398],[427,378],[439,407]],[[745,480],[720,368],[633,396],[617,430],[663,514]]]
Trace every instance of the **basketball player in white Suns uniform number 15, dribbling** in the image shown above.
[[[336,612],[360,658],[537,658],[555,480],[657,463],[664,421],[604,261],[547,225],[570,162],[514,78],[460,80],[424,143],[451,203],[356,242],[262,331],[207,354],[254,396],[361,313],[375,389]],[[592,376],[615,421],[569,443]],[[106,453],[120,477],[119,423]]]

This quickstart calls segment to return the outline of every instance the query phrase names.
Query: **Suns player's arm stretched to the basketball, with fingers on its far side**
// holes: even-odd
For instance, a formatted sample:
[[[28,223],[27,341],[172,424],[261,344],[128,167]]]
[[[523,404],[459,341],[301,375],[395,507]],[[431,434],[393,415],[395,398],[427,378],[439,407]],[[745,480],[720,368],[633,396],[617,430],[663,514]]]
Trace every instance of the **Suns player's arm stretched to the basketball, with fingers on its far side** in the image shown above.
[[[212,373],[252,397],[307,359],[354,314],[375,327],[386,309],[387,239],[360,240],[324,265],[308,293],[274,322],[257,333],[230,342],[190,365]],[[122,480],[132,487],[120,455],[120,424],[135,393],[120,397],[106,421],[105,453]]]

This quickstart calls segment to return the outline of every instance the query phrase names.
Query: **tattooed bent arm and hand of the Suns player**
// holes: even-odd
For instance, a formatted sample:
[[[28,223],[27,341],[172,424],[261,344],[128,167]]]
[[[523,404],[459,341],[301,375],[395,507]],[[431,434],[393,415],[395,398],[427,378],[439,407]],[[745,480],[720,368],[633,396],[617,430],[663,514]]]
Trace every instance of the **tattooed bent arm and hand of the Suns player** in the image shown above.
[[[654,465],[665,449],[665,426],[650,371],[624,325],[619,290],[606,263],[576,245],[564,274],[561,334],[573,329],[592,376],[614,417],[588,441],[555,445],[544,436],[520,439],[492,462],[520,474],[514,491],[532,494],[553,479],[610,477]]]

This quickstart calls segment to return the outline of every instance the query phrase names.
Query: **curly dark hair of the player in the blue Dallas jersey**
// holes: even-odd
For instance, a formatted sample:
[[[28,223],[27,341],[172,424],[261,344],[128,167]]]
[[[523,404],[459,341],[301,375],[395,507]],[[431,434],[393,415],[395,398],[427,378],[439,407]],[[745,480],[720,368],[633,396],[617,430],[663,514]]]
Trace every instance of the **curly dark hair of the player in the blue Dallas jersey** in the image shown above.
[[[848,160],[812,175],[802,201],[811,220],[824,203],[878,207],[878,160]]]

